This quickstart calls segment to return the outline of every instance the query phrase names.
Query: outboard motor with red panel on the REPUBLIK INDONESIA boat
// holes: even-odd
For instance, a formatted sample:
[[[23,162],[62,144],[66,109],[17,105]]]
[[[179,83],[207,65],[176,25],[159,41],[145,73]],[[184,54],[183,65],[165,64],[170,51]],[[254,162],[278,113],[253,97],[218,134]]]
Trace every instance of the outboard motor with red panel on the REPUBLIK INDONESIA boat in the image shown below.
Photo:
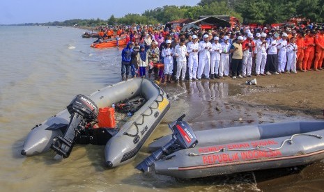
[[[192,128],[183,121],[185,114],[183,114],[176,121],[169,124],[169,128],[173,131],[172,140],[166,145],[153,152],[150,156],[146,157],[144,161],[141,161],[136,168],[143,172],[150,171],[150,167],[153,163],[162,157],[162,154],[168,155],[178,150],[188,149],[196,146],[198,140]]]

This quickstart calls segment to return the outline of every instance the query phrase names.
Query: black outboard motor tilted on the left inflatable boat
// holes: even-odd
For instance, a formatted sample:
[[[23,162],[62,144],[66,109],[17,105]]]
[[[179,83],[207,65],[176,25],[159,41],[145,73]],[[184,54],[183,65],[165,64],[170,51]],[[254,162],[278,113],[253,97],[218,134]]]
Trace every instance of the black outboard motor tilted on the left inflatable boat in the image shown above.
[[[77,95],[66,107],[71,114],[70,123],[63,137],[55,137],[51,149],[63,158],[69,157],[75,138],[80,134],[88,122],[97,120],[98,107],[84,95]]]

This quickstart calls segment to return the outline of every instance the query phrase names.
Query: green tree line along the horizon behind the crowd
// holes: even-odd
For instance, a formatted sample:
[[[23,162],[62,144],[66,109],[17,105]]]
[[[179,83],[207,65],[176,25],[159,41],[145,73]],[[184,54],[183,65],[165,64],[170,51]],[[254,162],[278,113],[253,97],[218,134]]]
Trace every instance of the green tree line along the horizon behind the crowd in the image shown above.
[[[324,22],[324,0],[201,0],[196,6],[163,6],[146,10],[142,14],[129,13],[120,18],[110,15],[107,20],[71,19],[45,25],[165,24],[182,18],[198,19],[201,15],[231,15],[245,24],[281,23],[291,17]]]

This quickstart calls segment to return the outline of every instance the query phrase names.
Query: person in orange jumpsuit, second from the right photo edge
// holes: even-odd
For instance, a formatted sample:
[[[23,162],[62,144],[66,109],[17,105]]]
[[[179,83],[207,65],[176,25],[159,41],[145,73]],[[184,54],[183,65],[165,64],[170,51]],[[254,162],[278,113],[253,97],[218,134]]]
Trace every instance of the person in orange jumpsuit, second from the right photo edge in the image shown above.
[[[314,55],[315,55],[315,31],[311,31],[308,35],[305,36],[304,45],[307,47],[304,50],[304,61],[302,61],[302,69],[303,70],[311,70],[311,63],[313,63]]]

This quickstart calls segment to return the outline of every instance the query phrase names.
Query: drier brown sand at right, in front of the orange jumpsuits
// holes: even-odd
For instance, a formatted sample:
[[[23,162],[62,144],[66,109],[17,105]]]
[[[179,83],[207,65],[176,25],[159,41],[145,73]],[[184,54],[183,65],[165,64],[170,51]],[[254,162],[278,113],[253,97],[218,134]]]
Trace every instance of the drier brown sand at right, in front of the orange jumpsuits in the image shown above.
[[[256,78],[255,86],[245,81]],[[241,87],[249,86],[246,94],[236,99],[256,106],[269,106],[275,111],[299,111],[314,118],[323,118],[324,71],[298,74],[272,74],[265,77],[226,79]]]

